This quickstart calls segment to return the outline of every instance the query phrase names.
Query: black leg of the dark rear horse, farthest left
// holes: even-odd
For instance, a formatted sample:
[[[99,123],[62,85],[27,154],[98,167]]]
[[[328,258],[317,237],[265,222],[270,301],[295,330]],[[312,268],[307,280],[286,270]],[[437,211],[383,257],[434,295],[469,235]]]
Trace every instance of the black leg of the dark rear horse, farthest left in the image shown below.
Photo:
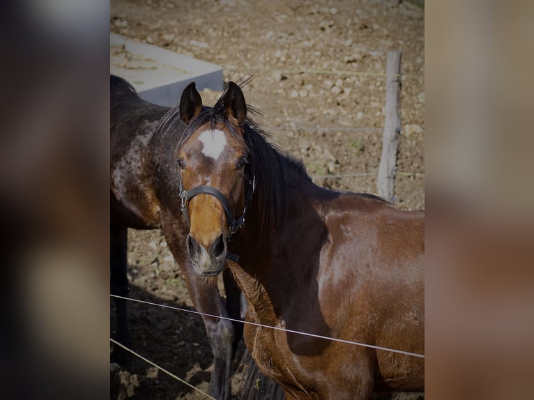
[[[110,230],[111,247],[110,247],[110,284],[109,289],[112,294],[128,297],[128,277],[126,270],[128,261],[126,258],[128,229],[124,226],[111,225]],[[116,340],[125,346],[130,345],[130,333],[128,332],[128,320],[126,318],[126,300],[115,299],[117,332]],[[119,362],[125,361],[123,351],[118,348],[114,350],[114,359]]]

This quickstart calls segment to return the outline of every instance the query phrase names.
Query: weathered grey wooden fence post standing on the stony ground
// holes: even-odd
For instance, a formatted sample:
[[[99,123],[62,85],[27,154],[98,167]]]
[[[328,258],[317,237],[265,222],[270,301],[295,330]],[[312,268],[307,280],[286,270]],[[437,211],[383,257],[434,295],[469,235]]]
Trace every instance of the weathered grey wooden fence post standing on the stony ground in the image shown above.
[[[397,152],[399,150],[400,121],[400,59],[402,52],[388,52],[386,61],[386,121],[382,139],[382,158],[376,189],[380,197],[395,200],[395,174],[397,173]]]

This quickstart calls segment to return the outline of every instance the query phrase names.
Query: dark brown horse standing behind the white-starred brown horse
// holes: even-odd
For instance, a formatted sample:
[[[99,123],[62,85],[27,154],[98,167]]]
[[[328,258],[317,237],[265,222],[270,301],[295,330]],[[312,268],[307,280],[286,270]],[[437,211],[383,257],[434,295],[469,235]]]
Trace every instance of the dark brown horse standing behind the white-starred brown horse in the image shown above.
[[[218,291],[218,277],[199,279],[192,273],[185,248],[189,226],[178,196],[180,169],[176,164],[175,137],[156,134],[156,127],[169,109],[142,100],[124,79],[111,76],[110,84],[112,294],[128,297],[127,229],[160,228],[183,272],[194,307],[206,314],[239,319],[241,295],[229,270],[223,275],[226,300]],[[183,128],[185,125],[176,127]],[[115,301],[116,339],[129,344],[125,300]],[[232,362],[243,336],[243,324],[202,318],[214,357],[212,394],[217,399],[229,399]]]

